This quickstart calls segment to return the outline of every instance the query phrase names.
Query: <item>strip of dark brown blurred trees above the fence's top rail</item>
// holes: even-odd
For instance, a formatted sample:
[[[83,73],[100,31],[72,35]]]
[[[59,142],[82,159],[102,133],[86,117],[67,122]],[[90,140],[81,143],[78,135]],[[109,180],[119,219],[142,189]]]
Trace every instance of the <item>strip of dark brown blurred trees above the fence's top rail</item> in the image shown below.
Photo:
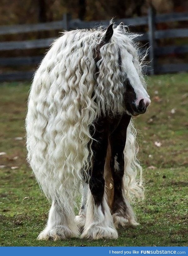
[[[186,12],[184,0],[1,0],[1,25],[30,24],[62,19],[63,13],[71,13],[74,19],[101,20],[147,15],[153,4],[158,14]]]

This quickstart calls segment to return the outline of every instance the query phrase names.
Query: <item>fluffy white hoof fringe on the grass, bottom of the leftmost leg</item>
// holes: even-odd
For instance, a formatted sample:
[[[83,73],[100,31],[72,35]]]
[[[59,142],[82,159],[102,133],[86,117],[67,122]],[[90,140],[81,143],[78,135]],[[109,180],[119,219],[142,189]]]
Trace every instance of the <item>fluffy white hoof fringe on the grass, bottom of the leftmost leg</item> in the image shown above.
[[[79,231],[71,231],[65,226],[55,226],[51,229],[45,228],[38,236],[39,240],[64,240],[66,238],[78,237],[80,235]]]

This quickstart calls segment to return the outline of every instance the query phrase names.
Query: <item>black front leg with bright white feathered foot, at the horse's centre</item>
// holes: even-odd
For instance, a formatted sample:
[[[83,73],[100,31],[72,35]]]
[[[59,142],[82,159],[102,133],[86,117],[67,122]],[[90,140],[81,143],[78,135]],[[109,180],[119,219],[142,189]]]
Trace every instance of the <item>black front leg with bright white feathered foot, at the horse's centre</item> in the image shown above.
[[[89,179],[90,190],[87,198],[86,223],[81,237],[115,239],[118,237],[118,233],[114,227],[104,189],[104,165],[108,145],[107,121],[102,118],[98,120],[92,133],[92,172]]]

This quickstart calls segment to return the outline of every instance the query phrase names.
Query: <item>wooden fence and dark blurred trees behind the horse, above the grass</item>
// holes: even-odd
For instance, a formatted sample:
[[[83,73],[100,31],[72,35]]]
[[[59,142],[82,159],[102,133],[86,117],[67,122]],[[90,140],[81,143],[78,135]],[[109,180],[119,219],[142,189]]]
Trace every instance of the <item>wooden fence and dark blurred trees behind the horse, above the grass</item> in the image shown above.
[[[188,71],[188,2],[184,0],[2,0],[0,81],[31,79],[60,31],[124,22],[150,47],[149,74]]]

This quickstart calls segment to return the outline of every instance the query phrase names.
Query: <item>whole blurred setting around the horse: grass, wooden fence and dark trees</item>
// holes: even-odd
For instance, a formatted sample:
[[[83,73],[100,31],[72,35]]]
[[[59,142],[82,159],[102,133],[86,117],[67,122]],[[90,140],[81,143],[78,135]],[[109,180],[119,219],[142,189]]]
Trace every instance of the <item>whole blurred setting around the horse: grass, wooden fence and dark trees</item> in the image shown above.
[[[151,104],[135,119],[146,199],[140,226],[116,241],[38,241],[50,203],[27,165],[25,115],[34,70],[64,29],[129,25],[149,48]],[[0,1],[0,246],[187,246],[188,1]]]

